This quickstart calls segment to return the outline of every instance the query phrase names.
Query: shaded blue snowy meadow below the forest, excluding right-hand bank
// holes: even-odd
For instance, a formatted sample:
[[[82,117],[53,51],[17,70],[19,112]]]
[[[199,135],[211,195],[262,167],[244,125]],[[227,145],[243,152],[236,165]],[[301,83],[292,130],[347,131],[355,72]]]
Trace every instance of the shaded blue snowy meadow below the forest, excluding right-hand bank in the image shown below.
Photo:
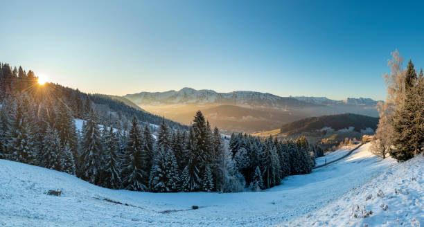
[[[109,190],[62,172],[0,160],[0,226],[284,224],[327,206],[394,164],[390,158],[380,161],[367,149],[364,145],[348,159],[312,174],[289,176],[270,190],[228,194]],[[61,197],[44,194],[58,188]],[[191,210],[193,205],[200,208]]]

